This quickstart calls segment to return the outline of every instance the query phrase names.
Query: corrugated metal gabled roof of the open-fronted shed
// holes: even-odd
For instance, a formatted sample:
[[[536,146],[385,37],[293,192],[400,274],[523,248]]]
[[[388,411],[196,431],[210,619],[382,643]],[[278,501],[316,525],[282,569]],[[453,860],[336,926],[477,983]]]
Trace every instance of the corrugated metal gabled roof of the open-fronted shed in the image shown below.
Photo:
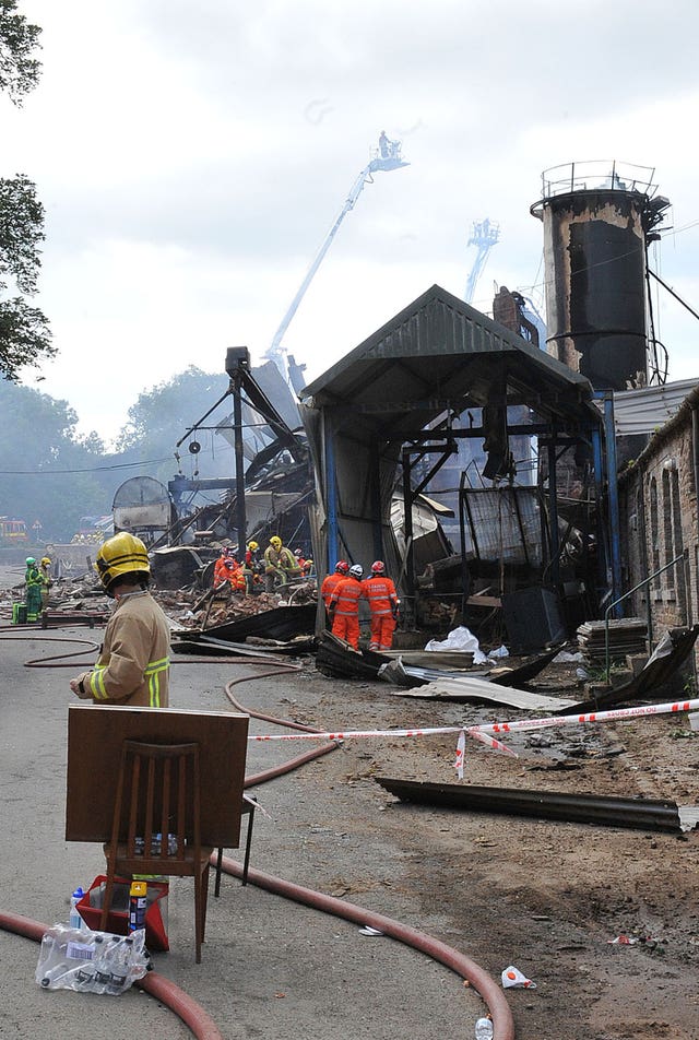
[[[483,406],[502,386],[508,405],[525,404],[540,421],[568,430],[600,423],[584,376],[433,285],[301,398],[311,407],[346,406],[374,433],[400,436],[416,418],[424,426],[446,409]]]

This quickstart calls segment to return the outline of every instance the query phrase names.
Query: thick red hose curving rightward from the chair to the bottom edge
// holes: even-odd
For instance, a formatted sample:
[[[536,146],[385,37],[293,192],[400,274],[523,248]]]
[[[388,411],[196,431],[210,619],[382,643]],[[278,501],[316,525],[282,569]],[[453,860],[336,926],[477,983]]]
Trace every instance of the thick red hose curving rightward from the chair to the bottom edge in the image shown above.
[[[236,877],[242,875],[242,867],[225,856],[222,861],[222,868],[227,874],[234,874]],[[257,885],[258,888],[264,888],[277,896],[283,896],[285,899],[293,899],[295,902],[303,902],[305,906],[321,910],[323,913],[332,913],[337,918],[344,918],[346,921],[353,921],[355,924],[368,924],[406,946],[422,950],[433,960],[438,960],[447,968],[455,971],[457,974],[467,980],[478,991],[493,1016],[493,1040],[514,1040],[514,1021],[505,994],[487,971],[484,971],[475,961],[459,953],[452,946],[447,946],[446,943],[433,938],[431,935],[410,927],[407,924],[401,924],[400,921],[387,918],[382,913],[374,913],[363,907],[357,907],[355,903],[345,902],[344,899],[325,896],[323,893],[313,891],[311,888],[303,888],[300,885],[282,881],[282,878],[273,877],[271,874],[263,874],[262,871],[254,871],[250,867],[248,882]]]

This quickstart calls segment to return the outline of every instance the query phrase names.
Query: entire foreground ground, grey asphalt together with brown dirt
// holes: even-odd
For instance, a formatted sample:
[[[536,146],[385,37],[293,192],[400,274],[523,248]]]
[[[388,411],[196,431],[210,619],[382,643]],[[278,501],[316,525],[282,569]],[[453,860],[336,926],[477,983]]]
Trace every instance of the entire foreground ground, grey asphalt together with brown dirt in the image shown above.
[[[0,780],[8,826],[17,837],[0,877],[5,907],[40,921],[55,920],[75,881],[99,873],[103,862],[98,849],[62,841],[69,673],[22,664],[31,655],[66,652],[39,645],[46,635],[37,633],[26,648],[0,648]],[[99,635],[74,629],[49,638],[60,643]],[[229,709],[225,683],[257,671],[180,662],[173,707]],[[574,665],[549,666],[532,688],[582,696]],[[312,658],[298,671],[234,689],[251,711],[320,730],[526,717],[511,708],[407,698],[380,682],[331,678]],[[275,731],[254,719],[250,730]],[[518,758],[469,741],[463,782],[699,804],[699,732],[685,714],[537,730],[508,736],[508,744]],[[297,753],[292,744],[253,744],[248,775]],[[256,789],[268,815],[256,820],[252,866],[417,927],[475,960],[498,983],[502,970],[516,966],[536,985],[507,991],[518,1040],[697,1040],[699,830],[674,836],[431,808],[401,803],[376,782],[453,783],[454,755],[454,734],[347,740]],[[27,818],[35,822],[31,828]],[[203,965],[192,969],[191,908],[178,891],[175,886],[170,900],[173,949],[156,968],[199,1000],[226,1038],[473,1035],[482,1002],[446,969],[233,881],[210,907]],[[621,935],[635,942],[612,942]],[[0,934],[0,945],[14,969],[0,983],[0,1036],[111,1040],[134,1028],[147,1029],[154,1040],[186,1035],[169,1013],[135,994],[125,995],[118,1011],[95,997],[90,1028],[76,1030],[70,997],[81,998],[49,1001],[31,981],[32,944]]]

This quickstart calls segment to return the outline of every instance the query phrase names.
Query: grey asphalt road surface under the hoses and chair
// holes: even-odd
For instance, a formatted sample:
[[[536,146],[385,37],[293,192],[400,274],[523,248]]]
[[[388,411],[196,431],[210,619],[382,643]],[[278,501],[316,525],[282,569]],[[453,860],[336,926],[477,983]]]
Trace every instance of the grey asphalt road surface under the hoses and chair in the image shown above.
[[[16,575],[5,574],[4,587],[15,580]],[[98,846],[64,840],[68,706],[76,702],[68,679],[92,660],[91,643],[99,637],[88,628],[27,634],[8,626],[0,633],[1,908],[47,925],[67,921],[72,890],[104,872]],[[84,651],[74,667],[25,666],[29,659],[71,650]],[[171,707],[232,710],[225,683],[256,671],[220,662],[177,663]],[[317,673],[236,689],[274,716],[303,721],[316,713],[322,697],[322,714],[333,724],[360,721],[343,714],[340,690],[334,702],[333,684]],[[251,722],[251,732],[269,731],[269,723]],[[246,772],[284,761],[297,753],[291,748],[250,744]],[[425,915],[420,893],[411,884],[413,860],[424,853],[419,835],[412,827],[406,836],[403,828],[382,826],[378,812],[390,800],[375,793],[376,784],[365,817],[368,788],[354,789],[354,756],[366,753],[345,745],[257,791],[264,813],[257,814],[252,866],[427,933],[448,932],[440,914]],[[95,776],[93,782],[103,778]],[[90,799],[90,790],[84,796]],[[240,858],[238,851],[227,854]],[[168,934],[171,949],[154,955],[156,970],[198,1001],[226,1038],[393,1040],[410,1035],[442,1040],[472,1036],[484,1009],[457,974],[424,954],[387,937],[365,936],[355,924],[253,885],[242,887],[233,877],[224,877],[221,899],[210,897],[201,965],[194,964],[189,879],[171,882]],[[462,936],[452,938],[462,945]],[[0,931],[0,1037],[174,1040],[191,1035],[169,1009],[135,989],[119,997],[42,990],[34,980],[38,950],[35,942]]]

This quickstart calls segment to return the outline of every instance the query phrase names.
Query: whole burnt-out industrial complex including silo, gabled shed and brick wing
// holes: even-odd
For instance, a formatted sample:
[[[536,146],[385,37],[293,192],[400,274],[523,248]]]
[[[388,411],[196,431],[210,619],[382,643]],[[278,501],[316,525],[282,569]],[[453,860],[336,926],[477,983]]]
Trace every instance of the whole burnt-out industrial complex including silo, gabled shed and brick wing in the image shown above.
[[[697,394],[666,385],[655,336],[648,247],[670,203],[652,173],[544,173],[545,336],[518,293],[500,288],[494,320],[434,285],[300,390],[295,366],[298,401],[228,350],[228,392],[178,448],[215,429],[235,474],[170,482],[159,552],[279,534],[321,576],[382,558],[404,633],[467,624],[522,651],[609,611],[647,617],[649,647],[691,626]],[[201,489],[221,503],[194,508]]]

